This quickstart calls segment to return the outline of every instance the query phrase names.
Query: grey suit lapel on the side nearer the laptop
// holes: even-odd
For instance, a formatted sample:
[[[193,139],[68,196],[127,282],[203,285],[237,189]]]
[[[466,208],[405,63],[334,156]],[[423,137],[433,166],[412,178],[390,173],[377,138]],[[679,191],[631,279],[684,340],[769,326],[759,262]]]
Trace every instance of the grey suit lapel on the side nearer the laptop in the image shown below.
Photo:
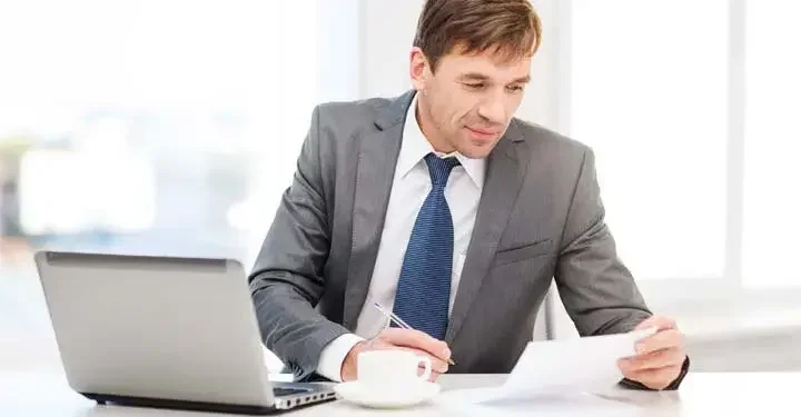
[[[409,91],[393,101],[376,119],[378,129],[359,138],[350,259],[343,311],[343,325],[350,330],[356,329],[369,290],[400,151],[403,121],[413,95]]]

